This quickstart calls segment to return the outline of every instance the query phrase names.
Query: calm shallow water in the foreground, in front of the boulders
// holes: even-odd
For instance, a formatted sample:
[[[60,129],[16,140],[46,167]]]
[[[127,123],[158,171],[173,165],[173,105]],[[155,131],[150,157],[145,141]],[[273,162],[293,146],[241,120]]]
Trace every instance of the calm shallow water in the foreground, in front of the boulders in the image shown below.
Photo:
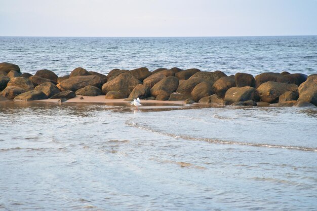
[[[0,103],[0,210],[315,210],[317,110],[171,109]]]

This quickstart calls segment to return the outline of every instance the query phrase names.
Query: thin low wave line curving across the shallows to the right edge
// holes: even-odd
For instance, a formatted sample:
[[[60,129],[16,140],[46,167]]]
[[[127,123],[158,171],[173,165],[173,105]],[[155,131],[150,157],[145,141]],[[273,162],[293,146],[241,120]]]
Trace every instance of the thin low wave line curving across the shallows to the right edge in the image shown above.
[[[182,138],[186,140],[195,140],[195,141],[205,141],[209,143],[214,144],[226,144],[226,145],[242,145],[242,146],[252,146],[252,147],[266,147],[266,148],[281,148],[281,149],[288,149],[288,150],[301,150],[301,151],[312,151],[317,152],[317,148],[309,148],[309,147],[301,147],[301,146],[286,146],[286,145],[272,145],[272,144],[265,144],[265,143],[251,143],[251,142],[236,142],[232,140],[221,140],[216,138],[203,138],[203,137],[193,137],[189,135],[181,135],[181,134],[173,134],[173,133],[167,133],[162,132],[159,130],[154,130],[150,127],[146,127],[143,125],[139,125],[135,122],[133,122],[132,119],[129,119],[125,122],[126,125],[136,127],[142,130],[147,130],[150,132],[154,132],[160,135],[167,135],[174,138]]]

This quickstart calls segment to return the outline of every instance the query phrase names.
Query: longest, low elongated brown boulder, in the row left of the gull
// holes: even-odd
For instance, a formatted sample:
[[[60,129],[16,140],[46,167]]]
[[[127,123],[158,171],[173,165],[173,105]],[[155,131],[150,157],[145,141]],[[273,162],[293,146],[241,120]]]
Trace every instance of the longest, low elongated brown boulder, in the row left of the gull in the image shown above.
[[[61,91],[71,90],[75,92],[85,86],[95,86],[101,88],[104,83],[105,80],[101,79],[99,76],[74,76],[62,81],[57,85],[57,87]]]

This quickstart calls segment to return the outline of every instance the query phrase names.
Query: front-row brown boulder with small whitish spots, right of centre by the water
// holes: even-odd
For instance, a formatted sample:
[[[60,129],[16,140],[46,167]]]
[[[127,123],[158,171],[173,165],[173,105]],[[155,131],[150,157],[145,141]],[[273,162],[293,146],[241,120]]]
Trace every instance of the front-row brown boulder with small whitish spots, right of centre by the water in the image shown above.
[[[255,89],[250,86],[231,87],[227,90],[224,100],[228,103],[253,100]]]

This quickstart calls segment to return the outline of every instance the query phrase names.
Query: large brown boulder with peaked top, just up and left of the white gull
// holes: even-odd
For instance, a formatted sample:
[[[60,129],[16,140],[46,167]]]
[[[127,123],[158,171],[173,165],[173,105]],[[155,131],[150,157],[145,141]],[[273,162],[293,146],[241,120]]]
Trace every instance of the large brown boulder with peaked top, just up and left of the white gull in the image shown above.
[[[108,91],[120,91],[126,96],[129,96],[134,87],[138,84],[142,84],[142,82],[134,78],[131,73],[123,73],[105,83],[102,86],[102,92],[106,94]]]

